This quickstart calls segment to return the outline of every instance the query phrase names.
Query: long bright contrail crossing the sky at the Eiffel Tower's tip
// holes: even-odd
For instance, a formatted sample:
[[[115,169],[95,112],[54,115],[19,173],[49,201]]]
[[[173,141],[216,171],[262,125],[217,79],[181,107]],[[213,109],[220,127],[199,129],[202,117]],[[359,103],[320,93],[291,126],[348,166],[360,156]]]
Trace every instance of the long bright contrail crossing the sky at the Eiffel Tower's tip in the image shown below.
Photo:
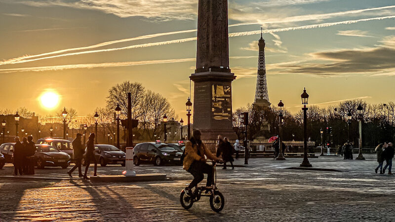
[[[395,18],[395,16],[384,16],[384,17],[375,17],[375,18],[367,18],[367,19],[348,20],[348,21],[341,21],[341,22],[321,23],[321,24],[298,26],[298,27],[270,29],[270,30],[264,30],[264,33],[276,33],[276,32],[285,32],[285,31],[293,31],[293,30],[323,28],[323,27],[330,27],[330,26],[336,26],[336,25],[342,25],[342,24],[353,24],[353,23],[358,23],[358,22],[383,20],[383,19],[390,19],[390,18]],[[250,35],[257,35],[260,33],[261,33],[261,30],[249,31],[249,32],[238,32],[238,33],[229,34],[229,37],[250,36]],[[156,34],[154,34],[154,35],[156,35]],[[169,41],[159,41],[159,42],[152,42],[152,43],[145,43],[145,44],[130,45],[130,46],[119,47],[119,48],[98,49],[98,50],[66,53],[66,54],[47,56],[47,57],[36,58],[36,59],[27,59],[27,60],[26,59],[22,59],[22,60],[21,59],[13,59],[12,62],[10,60],[0,62],[0,65],[26,63],[26,62],[33,62],[33,61],[37,61],[37,60],[51,59],[51,58],[71,56],[71,55],[81,55],[81,54],[89,54],[89,53],[96,53],[96,52],[110,52],[110,51],[118,51],[118,50],[124,50],[124,49],[143,48],[143,47],[151,47],[151,46],[166,45],[166,44],[173,44],[173,43],[189,42],[189,41],[194,41],[196,39],[197,39],[197,37],[181,38],[181,39],[175,39],[175,40],[169,40]],[[67,50],[67,49],[65,49],[65,50]],[[36,57],[36,56],[33,56],[33,57]]]

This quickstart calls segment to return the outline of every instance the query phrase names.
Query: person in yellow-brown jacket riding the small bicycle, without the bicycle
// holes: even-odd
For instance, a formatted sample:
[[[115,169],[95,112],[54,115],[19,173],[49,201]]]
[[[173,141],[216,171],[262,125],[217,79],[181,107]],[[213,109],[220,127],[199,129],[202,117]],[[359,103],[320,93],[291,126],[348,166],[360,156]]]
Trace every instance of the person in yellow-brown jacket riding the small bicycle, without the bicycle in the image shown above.
[[[200,130],[194,129],[192,138],[185,144],[183,168],[194,176],[194,180],[191,184],[185,187],[185,191],[189,196],[192,195],[191,189],[204,179],[203,174],[207,174],[206,186],[213,185],[214,172],[212,166],[206,163],[206,157],[214,161],[221,161],[220,158],[217,158],[204,146],[200,140],[200,136]]]

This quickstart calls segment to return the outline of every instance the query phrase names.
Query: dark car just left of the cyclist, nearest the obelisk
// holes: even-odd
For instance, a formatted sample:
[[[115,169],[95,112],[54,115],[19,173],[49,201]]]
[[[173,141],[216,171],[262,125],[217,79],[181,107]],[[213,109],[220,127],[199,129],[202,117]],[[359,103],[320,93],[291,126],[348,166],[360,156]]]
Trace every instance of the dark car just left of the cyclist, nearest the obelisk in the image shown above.
[[[182,152],[162,143],[142,143],[133,148],[133,162],[138,166],[141,163],[153,163],[163,165],[164,163],[180,164]]]

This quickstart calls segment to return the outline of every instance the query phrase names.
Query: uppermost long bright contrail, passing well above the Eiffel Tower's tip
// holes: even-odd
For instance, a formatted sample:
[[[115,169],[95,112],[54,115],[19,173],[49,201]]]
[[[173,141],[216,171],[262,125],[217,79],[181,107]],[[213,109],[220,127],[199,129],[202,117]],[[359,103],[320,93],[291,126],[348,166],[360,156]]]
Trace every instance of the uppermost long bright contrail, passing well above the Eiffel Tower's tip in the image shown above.
[[[327,18],[331,18],[334,16],[340,16],[340,15],[346,15],[346,14],[356,14],[356,13],[361,13],[364,11],[381,10],[381,9],[388,9],[388,8],[394,8],[394,7],[395,7],[395,5],[389,5],[389,6],[384,6],[384,7],[365,8],[365,9],[357,9],[357,10],[342,11],[342,12],[332,12],[332,13],[325,13],[325,14],[299,15],[299,16],[286,17],[281,20],[274,20],[274,21],[269,20],[269,21],[265,21],[265,22],[238,23],[238,24],[230,25],[229,27],[243,26],[243,25],[284,23],[284,22],[300,22],[300,21],[308,21],[308,20],[316,20],[316,19],[327,19]],[[52,55],[52,54],[59,54],[59,53],[64,53],[64,52],[69,52],[69,51],[92,49],[92,48],[102,47],[102,46],[116,44],[116,43],[120,43],[120,42],[141,40],[141,39],[182,34],[182,33],[192,33],[192,32],[196,32],[196,31],[197,31],[196,29],[193,29],[193,30],[175,31],[175,32],[168,32],[168,33],[151,34],[151,35],[145,35],[145,36],[140,36],[140,37],[124,38],[124,39],[119,39],[119,40],[114,40],[114,41],[106,41],[106,42],[101,42],[98,44],[85,46],[85,47],[68,48],[68,49],[57,50],[57,51],[42,53],[42,54],[37,54],[37,55],[21,56],[21,57],[17,57],[17,58],[13,58],[13,59],[9,59],[9,60],[0,62],[0,65],[13,64],[13,62],[19,61],[19,60],[47,56],[47,55]]]

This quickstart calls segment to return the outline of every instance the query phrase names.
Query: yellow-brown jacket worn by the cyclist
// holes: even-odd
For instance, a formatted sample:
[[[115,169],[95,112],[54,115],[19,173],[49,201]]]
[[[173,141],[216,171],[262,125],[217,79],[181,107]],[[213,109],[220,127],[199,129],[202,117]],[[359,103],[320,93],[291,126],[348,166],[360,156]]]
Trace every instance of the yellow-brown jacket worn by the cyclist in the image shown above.
[[[197,149],[200,151],[200,155],[197,154]],[[204,144],[202,143],[201,146],[198,148],[197,144],[192,146],[192,142],[188,141],[185,144],[185,157],[183,162],[184,170],[189,170],[191,164],[196,161],[206,161],[206,157],[211,160],[218,160],[218,158],[208,150]]]

